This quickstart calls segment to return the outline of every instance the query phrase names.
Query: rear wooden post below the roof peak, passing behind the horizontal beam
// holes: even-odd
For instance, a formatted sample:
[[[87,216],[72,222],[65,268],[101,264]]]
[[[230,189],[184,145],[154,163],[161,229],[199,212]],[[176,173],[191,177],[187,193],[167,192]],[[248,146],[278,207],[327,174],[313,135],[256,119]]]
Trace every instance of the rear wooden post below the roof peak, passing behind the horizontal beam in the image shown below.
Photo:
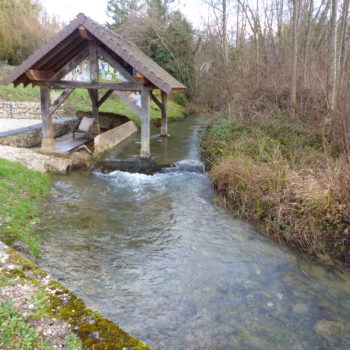
[[[97,45],[95,41],[89,42],[89,51],[90,51],[90,78],[92,83],[98,82],[98,57],[97,57]],[[92,102],[92,115],[95,119],[95,123],[92,128],[92,133],[98,135],[101,132],[100,128],[100,118],[98,113],[98,90],[90,89],[89,95]]]

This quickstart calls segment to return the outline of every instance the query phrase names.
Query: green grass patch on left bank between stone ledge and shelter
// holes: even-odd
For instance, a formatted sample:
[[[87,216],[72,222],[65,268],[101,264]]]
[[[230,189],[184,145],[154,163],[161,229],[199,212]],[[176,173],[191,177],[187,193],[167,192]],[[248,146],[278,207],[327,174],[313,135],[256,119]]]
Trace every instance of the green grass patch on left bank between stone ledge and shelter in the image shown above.
[[[32,225],[38,220],[37,202],[48,193],[50,184],[48,175],[0,159],[0,240],[10,245],[20,240],[34,255],[39,254]]]

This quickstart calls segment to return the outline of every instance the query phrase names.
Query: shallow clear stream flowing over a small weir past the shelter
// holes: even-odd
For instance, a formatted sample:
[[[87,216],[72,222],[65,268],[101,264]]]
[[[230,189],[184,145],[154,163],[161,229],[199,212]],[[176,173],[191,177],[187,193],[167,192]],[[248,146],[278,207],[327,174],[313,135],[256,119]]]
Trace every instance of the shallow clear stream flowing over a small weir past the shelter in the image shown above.
[[[170,124],[169,139],[153,130],[147,169],[198,159],[201,123]],[[350,349],[348,273],[215,206],[203,173],[113,171],[145,168],[138,152],[136,138],[95,171],[56,179],[42,267],[154,349]]]

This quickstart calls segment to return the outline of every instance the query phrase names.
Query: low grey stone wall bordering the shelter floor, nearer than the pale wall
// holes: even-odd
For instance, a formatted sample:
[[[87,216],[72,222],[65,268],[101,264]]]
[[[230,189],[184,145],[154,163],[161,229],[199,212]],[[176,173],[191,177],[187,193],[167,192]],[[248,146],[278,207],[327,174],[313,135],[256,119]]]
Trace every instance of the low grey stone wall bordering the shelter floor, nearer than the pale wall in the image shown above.
[[[79,123],[78,117],[63,117],[53,121],[55,137],[71,132]],[[42,124],[0,133],[0,145],[13,147],[33,147],[41,143]]]

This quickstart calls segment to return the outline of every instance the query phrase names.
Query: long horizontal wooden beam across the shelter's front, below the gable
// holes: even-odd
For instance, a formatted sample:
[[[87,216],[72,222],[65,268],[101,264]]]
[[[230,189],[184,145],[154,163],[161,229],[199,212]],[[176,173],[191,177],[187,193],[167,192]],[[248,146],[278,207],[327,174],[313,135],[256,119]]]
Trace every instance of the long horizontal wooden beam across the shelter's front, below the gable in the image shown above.
[[[52,88],[81,88],[81,89],[102,89],[102,90],[120,90],[120,91],[141,91],[144,87],[138,83],[90,83],[85,81],[66,81],[66,80],[46,80],[38,81],[38,85]]]

